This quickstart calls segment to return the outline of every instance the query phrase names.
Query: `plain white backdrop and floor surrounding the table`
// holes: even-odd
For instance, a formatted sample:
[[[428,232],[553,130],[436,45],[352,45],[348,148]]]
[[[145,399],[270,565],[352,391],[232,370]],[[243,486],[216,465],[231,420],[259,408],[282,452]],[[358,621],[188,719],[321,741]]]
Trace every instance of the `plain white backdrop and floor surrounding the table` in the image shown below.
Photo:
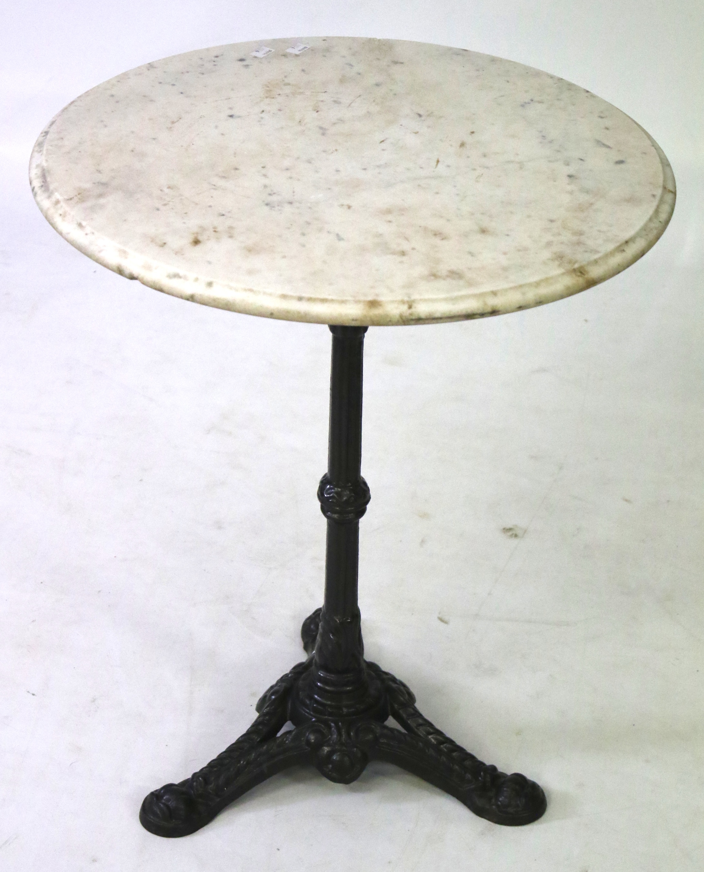
[[[137,822],[301,657],[329,337],[97,267],[34,206],[29,153],[132,66],[314,34],[539,67],[638,120],[674,167],[665,236],[610,282],[368,334],[367,651],[470,750],[540,780],[529,828],[386,766],[346,788],[286,773],[186,840]],[[0,48],[0,865],[700,872],[701,2],[11,0]]]

